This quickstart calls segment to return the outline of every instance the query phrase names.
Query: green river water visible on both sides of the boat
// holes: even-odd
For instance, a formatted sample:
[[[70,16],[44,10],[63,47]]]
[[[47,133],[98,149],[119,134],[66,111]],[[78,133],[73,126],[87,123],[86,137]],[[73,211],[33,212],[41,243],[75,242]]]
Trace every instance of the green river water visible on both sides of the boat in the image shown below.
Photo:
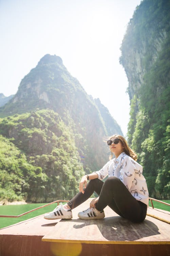
[[[164,202],[170,203],[170,200],[163,200]],[[20,205],[0,205],[0,215],[19,215],[24,212],[28,212],[32,209],[35,209],[41,205],[45,205],[45,203],[29,203],[29,204],[20,204]],[[170,211],[170,207],[168,205],[153,201],[153,205],[155,208],[162,209],[165,211]],[[35,216],[45,214],[46,212],[52,211],[57,206],[56,203],[48,205],[47,207],[38,209],[34,212],[23,215],[19,218],[2,218],[0,217],[0,228],[7,227],[13,225],[15,223],[25,221],[26,219],[33,218]],[[149,201],[149,206],[151,203]]]

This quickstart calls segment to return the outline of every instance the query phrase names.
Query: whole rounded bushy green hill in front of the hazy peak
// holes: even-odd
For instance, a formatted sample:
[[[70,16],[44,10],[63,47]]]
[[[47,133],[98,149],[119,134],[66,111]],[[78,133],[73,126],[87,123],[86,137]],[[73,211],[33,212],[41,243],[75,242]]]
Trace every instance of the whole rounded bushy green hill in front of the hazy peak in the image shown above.
[[[41,110],[6,117],[0,132],[2,200],[48,202],[78,192],[83,165],[75,136],[57,113]]]

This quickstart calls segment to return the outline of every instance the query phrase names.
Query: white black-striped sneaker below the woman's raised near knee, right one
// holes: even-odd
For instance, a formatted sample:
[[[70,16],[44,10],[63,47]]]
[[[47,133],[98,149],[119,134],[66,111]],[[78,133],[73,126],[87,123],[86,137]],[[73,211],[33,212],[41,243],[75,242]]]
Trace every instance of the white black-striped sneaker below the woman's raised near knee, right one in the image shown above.
[[[80,219],[103,219],[105,217],[104,211],[98,211],[96,208],[88,208],[83,212],[78,213]]]

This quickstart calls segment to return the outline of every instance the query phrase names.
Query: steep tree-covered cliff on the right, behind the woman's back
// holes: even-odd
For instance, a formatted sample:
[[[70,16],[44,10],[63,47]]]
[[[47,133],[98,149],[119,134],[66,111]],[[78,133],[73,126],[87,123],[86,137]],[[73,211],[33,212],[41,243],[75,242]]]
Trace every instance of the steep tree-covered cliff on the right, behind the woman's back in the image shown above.
[[[128,138],[151,197],[170,194],[170,1],[143,0],[130,20],[120,63],[129,81]]]

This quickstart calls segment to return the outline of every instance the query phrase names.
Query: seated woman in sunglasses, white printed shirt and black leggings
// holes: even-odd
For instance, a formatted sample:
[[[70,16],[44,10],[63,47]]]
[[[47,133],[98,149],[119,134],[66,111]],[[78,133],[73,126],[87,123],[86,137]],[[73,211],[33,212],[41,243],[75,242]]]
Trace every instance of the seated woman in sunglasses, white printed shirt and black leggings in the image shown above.
[[[72,218],[71,210],[86,201],[95,191],[99,197],[90,202],[90,208],[78,213],[79,218],[104,218],[103,209],[108,205],[118,215],[132,222],[145,219],[149,194],[142,166],[136,162],[136,154],[120,135],[113,135],[107,144],[111,156],[106,165],[100,171],[85,174],[79,184],[80,192],[65,205],[58,205],[44,218]],[[107,175],[108,178],[103,182]]]

